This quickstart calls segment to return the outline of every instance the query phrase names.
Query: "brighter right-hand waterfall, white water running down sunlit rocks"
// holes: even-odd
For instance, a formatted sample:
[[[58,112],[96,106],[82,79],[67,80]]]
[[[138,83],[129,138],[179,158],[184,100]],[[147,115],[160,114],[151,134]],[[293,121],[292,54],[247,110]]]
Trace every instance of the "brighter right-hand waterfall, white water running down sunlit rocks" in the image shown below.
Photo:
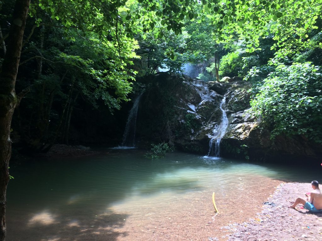
[[[223,105],[226,101],[226,95],[224,95],[222,102],[220,103],[220,110],[223,112],[223,116],[219,125],[213,129],[213,135],[209,141],[209,152],[208,156],[214,155],[215,157],[220,156],[220,141],[226,133],[228,126],[228,118],[226,111],[223,109]]]

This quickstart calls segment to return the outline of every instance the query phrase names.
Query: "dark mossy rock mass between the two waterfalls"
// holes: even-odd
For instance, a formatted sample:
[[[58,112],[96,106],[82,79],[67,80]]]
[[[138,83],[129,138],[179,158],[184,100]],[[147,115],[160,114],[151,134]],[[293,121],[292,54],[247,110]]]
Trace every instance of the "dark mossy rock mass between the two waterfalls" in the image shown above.
[[[222,116],[219,104],[223,96],[210,90],[203,81],[170,72],[148,81],[141,97],[137,138],[170,141],[184,150],[206,152],[207,134]]]

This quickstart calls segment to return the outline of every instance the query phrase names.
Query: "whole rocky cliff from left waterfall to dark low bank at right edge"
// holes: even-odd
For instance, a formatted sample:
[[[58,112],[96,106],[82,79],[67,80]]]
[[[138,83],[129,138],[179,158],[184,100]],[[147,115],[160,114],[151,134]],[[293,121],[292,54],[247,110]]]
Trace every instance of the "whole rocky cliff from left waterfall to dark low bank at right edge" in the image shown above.
[[[318,148],[303,137],[279,136],[260,128],[251,116],[250,85],[244,81],[208,82],[159,73],[148,80],[141,97],[137,119],[137,138],[146,142],[170,142],[184,151],[207,155],[214,130],[222,121],[228,126],[221,141],[221,155],[253,160],[317,157]],[[222,100],[222,109],[220,104]]]

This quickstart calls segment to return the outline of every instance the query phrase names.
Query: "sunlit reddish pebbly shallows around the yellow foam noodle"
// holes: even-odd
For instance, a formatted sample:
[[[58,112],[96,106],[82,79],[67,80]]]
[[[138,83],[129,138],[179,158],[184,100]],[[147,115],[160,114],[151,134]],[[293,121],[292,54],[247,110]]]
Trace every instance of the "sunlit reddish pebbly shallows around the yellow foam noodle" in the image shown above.
[[[248,180],[243,182],[249,183]],[[153,208],[143,206],[135,216],[127,218],[124,226],[118,229],[124,235],[116,237],[115,240],[227,240],[227,235],[232,233],[231,228],[223,227],[258,217],[262,202],[268,199],[279,183],[269,178],[257,177],[256,182],[247,187],[225,187],[226,192],[232,195],[215,195],[218,215],[213,207],[210,190],[190,193],[180,200],[172,200],[171,203],[158,203]],[[255,192],[257,185],[262,188]]]

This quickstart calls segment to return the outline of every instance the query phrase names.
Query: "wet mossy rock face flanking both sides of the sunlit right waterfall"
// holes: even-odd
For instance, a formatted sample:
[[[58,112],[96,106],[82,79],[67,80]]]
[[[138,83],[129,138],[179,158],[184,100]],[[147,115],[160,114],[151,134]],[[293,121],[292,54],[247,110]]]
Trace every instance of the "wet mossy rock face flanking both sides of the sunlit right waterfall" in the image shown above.
[[[205,83],[171,72],[159,73],[148,82],[137,120],[139,139],[170,142],[185,151],[208,153],[213,129],[222,121],[220,103],[226,95],[224,109],[229,124],[223,137],[226,143],[223,151],[229,154],[232,147],[251,145],[248,139],[257,122],[247,112],[250,108],[247,83]]]

